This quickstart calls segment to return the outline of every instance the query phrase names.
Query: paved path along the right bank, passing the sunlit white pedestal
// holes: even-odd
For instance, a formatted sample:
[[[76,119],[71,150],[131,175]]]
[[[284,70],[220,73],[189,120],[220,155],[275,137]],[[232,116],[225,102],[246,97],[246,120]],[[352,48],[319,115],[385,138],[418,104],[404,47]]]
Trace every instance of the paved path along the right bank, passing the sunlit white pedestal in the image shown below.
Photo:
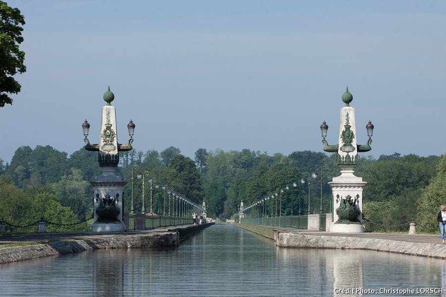
[[[299,230],[290,227],[273,227],[273,226],[261,226],[268,229],[282,230],[290,233],[308,234],[308,235],[321,235],[321,236],[343,236],[353,238],[376,238],[376,239],[388,239],[410,243],[426,243],[426,244],[441,244],[442,240],[440,235],[431,234],[391,234],[391,233],[332,233],[317,230]],[[446,246],[446,244],[444,244]]]

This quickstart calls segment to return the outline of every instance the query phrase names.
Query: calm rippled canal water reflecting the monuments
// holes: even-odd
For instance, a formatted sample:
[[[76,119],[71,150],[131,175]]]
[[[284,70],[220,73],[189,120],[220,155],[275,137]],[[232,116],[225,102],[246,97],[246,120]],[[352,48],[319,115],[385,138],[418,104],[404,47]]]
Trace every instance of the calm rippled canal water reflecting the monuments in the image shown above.
[[[362,296],[401,296],[379,290],[442,287],[445,260],[279,248],[232,225],[211,226],[177,248],[95,250],[0,265],[0,296],[361,296],[335,291],[350,288],[375,290]]]

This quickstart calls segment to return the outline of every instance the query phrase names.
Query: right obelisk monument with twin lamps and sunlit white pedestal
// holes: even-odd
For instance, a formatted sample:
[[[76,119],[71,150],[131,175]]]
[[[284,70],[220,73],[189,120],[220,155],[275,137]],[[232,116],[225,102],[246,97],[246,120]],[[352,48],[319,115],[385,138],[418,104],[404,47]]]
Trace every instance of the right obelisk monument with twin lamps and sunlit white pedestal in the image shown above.
[[[332,232],[355,233],[364,232],[362,224],[362,188],[367,184],[362,177],[354,175],[354,169],[358,161],[358,152],[369,151],[372,148],[373,124],[369,121],[366,125],[369,137],[367,145],[356,143],[355,110],[349,105],[353,96],[348,88],[342,95],[345,103],[340,110],[338,144],[330,146],[326,141],[328,125],[325,121],[321,125],[322,143],[327,152],[337,153],[337,163],[340,168],[340,176],[334,177],[330,182],[333,191],[333,205],[335,209]]]

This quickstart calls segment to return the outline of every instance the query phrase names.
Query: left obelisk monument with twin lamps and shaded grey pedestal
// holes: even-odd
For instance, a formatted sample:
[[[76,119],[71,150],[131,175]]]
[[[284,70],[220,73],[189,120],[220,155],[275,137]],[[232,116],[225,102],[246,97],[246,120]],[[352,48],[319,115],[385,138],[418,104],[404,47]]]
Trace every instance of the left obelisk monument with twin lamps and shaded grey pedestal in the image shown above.
[[[90,144],[87,136],[90,128],[87,120],[82,124],[85,136],[85,149],[98,152],[98,162],[102,175],[91,181],[93,186],[94,223],[92,232],[124,232],[123,223],[123,187],[126,184],[122,177],[116,175],[119,163],[119,151],[132,149],[135,124],[130,120],[127,125],[130,139],[126,145],[118,144],[116,132],[116,110],[111,106],[114,95],[110,91],[104,93],[107,104],[102,107],[101,134],[99,144]]]

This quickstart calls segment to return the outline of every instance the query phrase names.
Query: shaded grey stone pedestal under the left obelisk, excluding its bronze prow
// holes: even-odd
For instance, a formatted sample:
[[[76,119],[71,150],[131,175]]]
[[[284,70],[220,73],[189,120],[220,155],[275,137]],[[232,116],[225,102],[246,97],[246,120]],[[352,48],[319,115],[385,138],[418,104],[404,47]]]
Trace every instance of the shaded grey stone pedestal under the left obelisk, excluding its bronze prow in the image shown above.
[[[92,232],[124,232],[126,227],[123,220],[123,198],[122,192],[126,182],[122,177],[116,175],[116,167],[102,167],[102,175],[98,176],[94,181],[90,182],[93,186],[93,207],[94,207],[94,223]],[[101,205],[101,201],[110,195],[114,205],[119,209],[117,220],[114,222],[101,221],[99,219],[97,209]]]

